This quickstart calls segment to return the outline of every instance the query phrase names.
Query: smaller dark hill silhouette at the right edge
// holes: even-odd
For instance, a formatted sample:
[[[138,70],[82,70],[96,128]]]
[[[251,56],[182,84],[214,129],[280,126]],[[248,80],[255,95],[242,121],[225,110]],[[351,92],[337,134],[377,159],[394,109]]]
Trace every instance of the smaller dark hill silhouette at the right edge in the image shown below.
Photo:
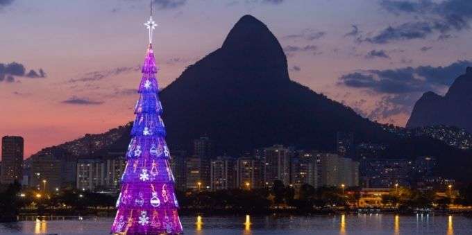
[[[472,67],[455,79],[445,96],[426,92],[414,105],[407,128],[452,125],[472,132]]]

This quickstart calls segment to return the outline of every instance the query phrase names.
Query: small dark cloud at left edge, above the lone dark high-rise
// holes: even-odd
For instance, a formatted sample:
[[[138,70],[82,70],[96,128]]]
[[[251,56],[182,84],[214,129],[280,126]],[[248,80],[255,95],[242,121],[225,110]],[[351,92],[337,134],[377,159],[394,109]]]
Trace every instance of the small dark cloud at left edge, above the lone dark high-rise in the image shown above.
[[[28,73],[26,73],[24,65],[17,62],[11,62],[10,64],[0,63],[0,82],[14,82],[15,77],[46,78],[46,73],[44,73],[42,69],[39,71],[31,69]]]

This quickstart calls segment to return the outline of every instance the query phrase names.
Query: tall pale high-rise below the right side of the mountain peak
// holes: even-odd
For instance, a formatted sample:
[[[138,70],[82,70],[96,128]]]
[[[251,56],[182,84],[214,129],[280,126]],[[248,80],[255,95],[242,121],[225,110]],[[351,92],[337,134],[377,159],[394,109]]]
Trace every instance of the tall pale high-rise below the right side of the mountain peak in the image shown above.
[[[282,145],[264,148],[264,184],[271,186],[280,180],[285,185],[290,184],[290,160],[294,151]]]

